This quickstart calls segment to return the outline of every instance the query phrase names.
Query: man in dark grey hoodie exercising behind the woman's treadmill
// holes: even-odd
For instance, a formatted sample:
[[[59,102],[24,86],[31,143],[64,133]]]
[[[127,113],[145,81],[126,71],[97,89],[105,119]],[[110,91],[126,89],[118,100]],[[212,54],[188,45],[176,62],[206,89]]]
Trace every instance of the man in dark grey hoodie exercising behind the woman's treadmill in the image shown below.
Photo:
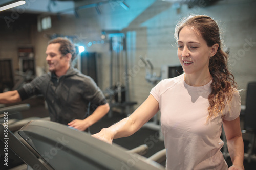
[[[52,121],[86,130],[109,112],[109,104],[93,79],[71,66],[76,50],[68,39],[59,37],[49,41],[46,55],[50,73],[18,90],[1,93],[0,103],[16,103],[42,94]],[[89,103],[97,108],[86,117]]]

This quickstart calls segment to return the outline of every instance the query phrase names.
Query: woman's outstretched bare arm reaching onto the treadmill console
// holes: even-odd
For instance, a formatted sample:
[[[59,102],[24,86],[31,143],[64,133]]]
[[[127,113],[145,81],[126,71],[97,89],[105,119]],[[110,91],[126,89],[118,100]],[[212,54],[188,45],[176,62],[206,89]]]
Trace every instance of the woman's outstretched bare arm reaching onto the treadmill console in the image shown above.
[[[157,100],[150,94],[148,98],[129,117],[120,122],[103,128],[99,133],[92,135],[95,138],[112,143],[113,139],[127,137],[138,131],[148,120],[150,120],[159,110]]]

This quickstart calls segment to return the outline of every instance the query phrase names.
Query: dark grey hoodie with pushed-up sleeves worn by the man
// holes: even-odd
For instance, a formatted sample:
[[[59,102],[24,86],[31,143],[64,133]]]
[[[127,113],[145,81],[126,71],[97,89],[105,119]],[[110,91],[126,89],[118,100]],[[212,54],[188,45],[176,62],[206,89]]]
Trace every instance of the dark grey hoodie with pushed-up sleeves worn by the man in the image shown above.
[[[44,74],[18,90],[22,100],[42,94],[48,104],[52,121],[67,125],[74,119],[84,119],[89,102],[95,109],[106,104],[105,97],[94,80],[74,68],[57,77],[55,73]]]

